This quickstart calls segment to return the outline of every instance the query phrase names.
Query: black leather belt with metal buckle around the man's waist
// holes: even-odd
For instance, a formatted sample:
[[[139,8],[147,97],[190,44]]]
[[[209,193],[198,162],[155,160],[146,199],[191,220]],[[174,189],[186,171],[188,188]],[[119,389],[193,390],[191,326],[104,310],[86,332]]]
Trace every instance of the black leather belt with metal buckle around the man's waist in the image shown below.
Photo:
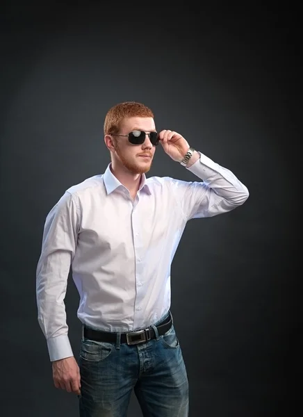
[[[156,325],[159,336],[162,336],[172,327],[172,316],[165,318],[162,322]],[[92,341],[113,343],[117,341],[117,333],[101,332],[101,330],[90,329],[89,327],[83,327],[83,336]],[[122,333],[121,342],[128,345],[137,345],[138,343],[144,343],[150,341],[152,338],[156,338],[155,331],[152,327],[147,329],[136,330],[136,332]]]

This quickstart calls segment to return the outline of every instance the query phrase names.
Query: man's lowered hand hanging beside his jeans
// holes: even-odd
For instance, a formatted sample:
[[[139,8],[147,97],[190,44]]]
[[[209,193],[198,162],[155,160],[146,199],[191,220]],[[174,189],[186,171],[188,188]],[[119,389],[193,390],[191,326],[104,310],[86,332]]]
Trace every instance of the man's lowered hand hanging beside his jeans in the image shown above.
[[[56,388],[65,389],[68,393],[81,394],[80,370],[74,357],[54,361],[52,367]]]

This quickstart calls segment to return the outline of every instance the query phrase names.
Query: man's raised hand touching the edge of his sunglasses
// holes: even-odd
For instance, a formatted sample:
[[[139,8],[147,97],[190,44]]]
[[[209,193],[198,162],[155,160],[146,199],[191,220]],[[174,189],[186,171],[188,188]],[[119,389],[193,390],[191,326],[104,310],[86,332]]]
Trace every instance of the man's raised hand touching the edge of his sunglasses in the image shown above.
[[[181,162],[190,148],[188,142],[179,133],[163,130],[159,133],[160,143],[166,152],[174,161]]]

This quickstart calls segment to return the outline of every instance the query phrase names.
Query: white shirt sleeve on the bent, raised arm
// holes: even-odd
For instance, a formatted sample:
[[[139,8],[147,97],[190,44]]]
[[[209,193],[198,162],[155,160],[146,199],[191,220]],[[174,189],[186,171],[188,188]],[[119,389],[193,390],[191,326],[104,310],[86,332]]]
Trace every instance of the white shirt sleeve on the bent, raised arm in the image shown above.
[[[247,187],[233,172],[215,163],[201,152],[187,169],[200,181],[173,179],[174,193],[186,220],[212,217],[231,211],[249,197]]]

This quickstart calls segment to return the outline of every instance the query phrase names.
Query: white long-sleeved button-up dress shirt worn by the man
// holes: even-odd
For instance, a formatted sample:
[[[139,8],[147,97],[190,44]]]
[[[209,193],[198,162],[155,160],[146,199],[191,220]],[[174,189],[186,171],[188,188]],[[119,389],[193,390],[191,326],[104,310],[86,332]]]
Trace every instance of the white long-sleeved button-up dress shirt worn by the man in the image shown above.
[[[73,356],[64,303],[71,265],[81,322],[106,332],[149,327],[170,309],[171,263],[186,222],[231,211],[249,196],[201,152],[187,168],[201,182],[142,174],[134,200],[110,165],[66,190],[44,224],[36,289],[51,361]]]

